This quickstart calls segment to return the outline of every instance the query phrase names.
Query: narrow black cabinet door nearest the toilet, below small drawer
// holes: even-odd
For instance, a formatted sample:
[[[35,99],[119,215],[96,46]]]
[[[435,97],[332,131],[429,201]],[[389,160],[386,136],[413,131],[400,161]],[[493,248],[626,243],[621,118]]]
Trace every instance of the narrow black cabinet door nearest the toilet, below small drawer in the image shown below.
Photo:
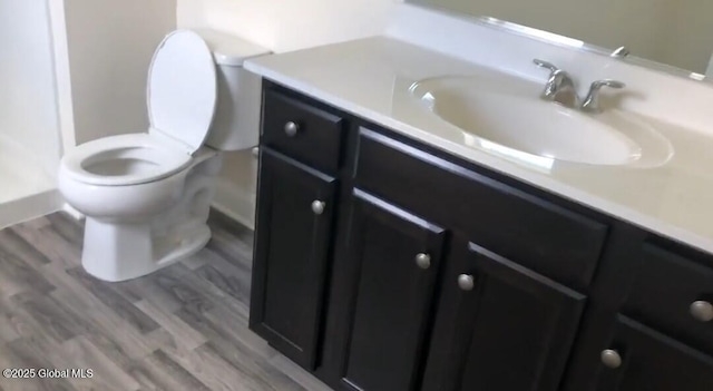
[[[336,182],[264,148],[257,192],[251,329],[314,369]]]

